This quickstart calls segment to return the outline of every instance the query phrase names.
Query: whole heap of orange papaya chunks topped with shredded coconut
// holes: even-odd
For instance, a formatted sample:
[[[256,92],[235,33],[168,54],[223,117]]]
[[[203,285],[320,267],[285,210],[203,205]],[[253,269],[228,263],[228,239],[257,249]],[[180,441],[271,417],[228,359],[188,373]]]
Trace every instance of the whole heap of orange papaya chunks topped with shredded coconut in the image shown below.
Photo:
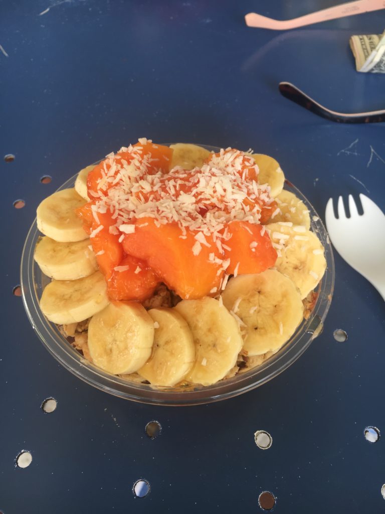
[[[266,188],[257,190],[251,156],[233,149],[210,154],[197,173],[169,170],[171,158],[168,146],[141,139],[88,175],[92,199],[76,213],[113,300],[147,299],[160,282],[183,299],[216,296],[225,273],[260,273],[277,259],[260,225],[277,204]],[[225,237],[204,234],[216,220]]]

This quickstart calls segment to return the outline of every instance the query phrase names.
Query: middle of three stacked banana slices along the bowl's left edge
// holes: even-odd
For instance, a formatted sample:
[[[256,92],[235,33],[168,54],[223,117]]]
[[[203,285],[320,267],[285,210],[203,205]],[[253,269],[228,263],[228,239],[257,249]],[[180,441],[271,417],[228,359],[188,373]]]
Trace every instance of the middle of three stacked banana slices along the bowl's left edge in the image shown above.
[[[88,277],[98,269],[89,239],[76,243],[58,243],[44,236],[36,245],[34,259],[43,273],[55,280]]]

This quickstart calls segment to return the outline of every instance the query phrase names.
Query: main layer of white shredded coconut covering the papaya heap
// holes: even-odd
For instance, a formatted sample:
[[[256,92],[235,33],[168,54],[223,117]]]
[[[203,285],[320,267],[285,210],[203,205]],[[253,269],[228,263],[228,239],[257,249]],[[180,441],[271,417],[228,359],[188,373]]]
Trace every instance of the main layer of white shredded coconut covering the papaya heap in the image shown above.
[[[224,248],[229,248],[224,242],[231,237],[226,225],[231,221],[259,224],[261,205],[273,201],[269,186],[260,185],[254,179],[245,180],[246,176],[256,177],[259,173],[249,154],[228,148],[218,155],[211,154],[209,162],[189,173],[176,167],[167,174],[161,169],[149,174],[149,166],[153,167],[157,159],[143,153],[143,145],[150,140],[140,138],[139,143],[123,147],[118,154],[108,154],[97,191],[89,191],[96,200],[94,217],[102,212],[111,213],[114,220],[108,229],[111,234],[131,234],[135,224],[138,227],[147,224],[140,223],[141,218],[147,217],[157,227],[176,223],[182,230],[179,236],[182,239],[186,238],[187,229],[194,233],[196,242],[191,245],[194,255],[200,253],[202,245],[212,246],[210,237],[222,253]],[[246,224],[244,227],[249,230]],[[211,259],[210,262],[218,264]]]

